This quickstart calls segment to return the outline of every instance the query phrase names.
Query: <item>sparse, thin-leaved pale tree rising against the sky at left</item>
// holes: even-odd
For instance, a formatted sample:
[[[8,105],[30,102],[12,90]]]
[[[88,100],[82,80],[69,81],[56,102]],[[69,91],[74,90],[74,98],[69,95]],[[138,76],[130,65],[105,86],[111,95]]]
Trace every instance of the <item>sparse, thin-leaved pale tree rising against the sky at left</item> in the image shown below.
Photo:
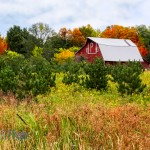
[[[56,34],[55,31],[51,29],[48,24],[44,24],[41,22],[33,24],[29,28],[29,32],[33,34],[37,39],[42,39],[43,42],[46,42],[48,37],[52,37]]]

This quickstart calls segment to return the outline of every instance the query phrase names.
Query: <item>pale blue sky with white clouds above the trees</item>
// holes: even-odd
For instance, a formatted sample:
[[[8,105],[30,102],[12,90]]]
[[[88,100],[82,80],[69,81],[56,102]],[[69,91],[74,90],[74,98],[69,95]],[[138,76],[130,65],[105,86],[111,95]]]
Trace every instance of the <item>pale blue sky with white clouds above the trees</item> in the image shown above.
[[[87,24],[101,31],[114,24],[150,26],[149,10],[150,0],[0,0],[0,34],[39,22],[56,32]]]

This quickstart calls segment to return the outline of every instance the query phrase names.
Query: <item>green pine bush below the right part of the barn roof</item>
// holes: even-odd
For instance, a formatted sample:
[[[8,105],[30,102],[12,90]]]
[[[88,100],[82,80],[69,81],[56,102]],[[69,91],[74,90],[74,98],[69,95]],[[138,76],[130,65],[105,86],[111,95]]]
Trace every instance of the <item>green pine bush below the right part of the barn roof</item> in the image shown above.
[[[140,75],[143,72],[139,62],[128,62],[127,64],[117,64],[111,68],[113,81],[118,83],[117,89],[121,95],[141,93],[145,85],[142,84]]]

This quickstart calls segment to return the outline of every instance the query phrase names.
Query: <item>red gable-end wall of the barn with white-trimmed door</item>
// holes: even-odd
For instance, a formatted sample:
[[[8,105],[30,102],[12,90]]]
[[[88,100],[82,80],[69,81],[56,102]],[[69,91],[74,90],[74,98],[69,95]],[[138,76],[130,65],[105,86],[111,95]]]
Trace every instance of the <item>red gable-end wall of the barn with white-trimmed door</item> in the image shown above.
[[[93,62],[96,57],[102,58],[102,54],[98,44],[91,40],[87,40],[85,46],[75,55],[77,61],[84,59],[88,62]]]

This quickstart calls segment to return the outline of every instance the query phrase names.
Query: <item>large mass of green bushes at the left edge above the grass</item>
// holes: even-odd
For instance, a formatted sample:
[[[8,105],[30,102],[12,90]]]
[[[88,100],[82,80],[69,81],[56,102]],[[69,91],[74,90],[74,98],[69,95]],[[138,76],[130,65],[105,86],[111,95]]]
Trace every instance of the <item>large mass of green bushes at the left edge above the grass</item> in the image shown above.
[[[50,63],[42,57],[26,60],[22,55],[0,57],[0,88],[13,92],[18,98],[37,96],[55,86]]]

